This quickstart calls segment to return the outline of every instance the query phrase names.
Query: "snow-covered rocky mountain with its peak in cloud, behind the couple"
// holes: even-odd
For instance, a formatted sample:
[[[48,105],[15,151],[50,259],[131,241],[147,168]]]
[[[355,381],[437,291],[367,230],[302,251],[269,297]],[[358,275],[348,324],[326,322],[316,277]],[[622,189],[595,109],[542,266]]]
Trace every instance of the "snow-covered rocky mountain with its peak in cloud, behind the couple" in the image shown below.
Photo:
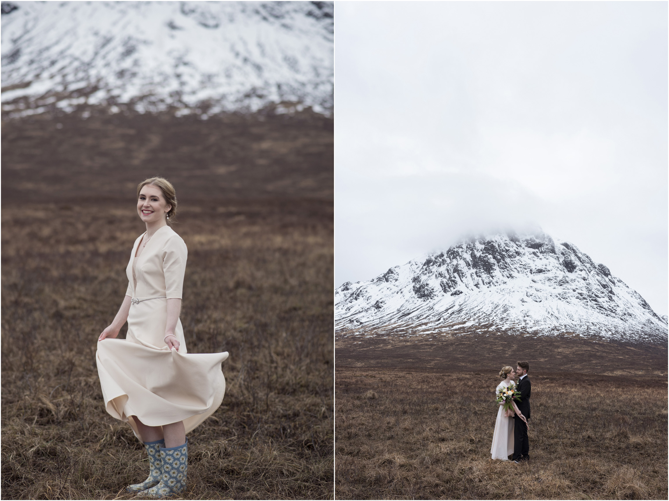
[[[472,238],[335,291],[338,335],[571,332],[665,340],[636,291],[567,241],[500,233]]]

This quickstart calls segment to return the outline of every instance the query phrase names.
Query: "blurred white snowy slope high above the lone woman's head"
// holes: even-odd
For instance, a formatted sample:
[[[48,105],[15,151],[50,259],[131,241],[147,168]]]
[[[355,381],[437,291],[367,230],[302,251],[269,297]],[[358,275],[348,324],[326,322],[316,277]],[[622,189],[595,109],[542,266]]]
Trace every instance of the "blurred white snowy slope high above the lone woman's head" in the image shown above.
[[[332,2],[3,2],[2,102],[332,109]]]

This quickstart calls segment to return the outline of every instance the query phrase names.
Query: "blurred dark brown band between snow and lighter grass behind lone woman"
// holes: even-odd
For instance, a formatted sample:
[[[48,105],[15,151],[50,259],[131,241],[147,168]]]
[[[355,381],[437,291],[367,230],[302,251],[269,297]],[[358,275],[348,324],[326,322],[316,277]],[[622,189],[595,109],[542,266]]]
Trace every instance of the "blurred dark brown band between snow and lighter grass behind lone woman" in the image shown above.
[[[134,198],[142,179],[162,175],[180,201],[311,197],[332,199],[332,119],[225,114],[200,120],[90,108],[3,120],[3,203]],[[60,128],[57,128],[60,126]]]

